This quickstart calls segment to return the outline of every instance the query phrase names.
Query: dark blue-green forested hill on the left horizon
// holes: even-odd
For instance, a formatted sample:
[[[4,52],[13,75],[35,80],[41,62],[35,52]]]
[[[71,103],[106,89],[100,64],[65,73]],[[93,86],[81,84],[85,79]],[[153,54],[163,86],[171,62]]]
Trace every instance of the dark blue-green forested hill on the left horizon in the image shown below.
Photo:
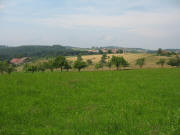
[[[87,51],[74,50],[74,47],[65,47],[61,45],[53,46],[40,46],[40,45],[28,45],[28,46],[18,46],[18,47],[6,47],[0,46],[0,59],[10,60],[15,57],[48,57],[57,55],[78,55],[87,54]]]

